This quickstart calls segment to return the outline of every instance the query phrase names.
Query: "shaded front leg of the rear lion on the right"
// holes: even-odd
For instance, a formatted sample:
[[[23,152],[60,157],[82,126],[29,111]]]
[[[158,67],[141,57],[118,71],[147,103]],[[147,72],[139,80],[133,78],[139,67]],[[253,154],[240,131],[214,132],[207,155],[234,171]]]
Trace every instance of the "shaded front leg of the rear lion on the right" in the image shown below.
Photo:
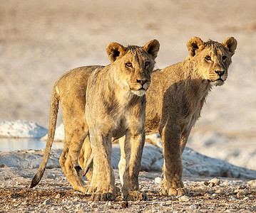
[[[183,185],[182,151],[180,147],[179,129],[175,125],[166,125],[161,132],[163,141],[163,185],[164,195],[188,195],[188,189]]]

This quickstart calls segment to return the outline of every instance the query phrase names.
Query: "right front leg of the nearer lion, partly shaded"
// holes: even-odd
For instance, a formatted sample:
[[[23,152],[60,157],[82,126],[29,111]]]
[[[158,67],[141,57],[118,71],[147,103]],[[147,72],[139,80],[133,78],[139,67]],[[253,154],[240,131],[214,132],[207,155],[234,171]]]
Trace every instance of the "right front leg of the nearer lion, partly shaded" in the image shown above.
[[[140,192],[138,187],[138,175],[140,172],[140,161],[142,158],[144,143],[144,131],[139,135],[134,135],[128,131],[126,133],[125,143],[121,143],[126,161],[124,172],[122,171],[122,192],[124,200],[148,200],[148,196],[145,192]],[[120,174],[122,175],[122,173]]]

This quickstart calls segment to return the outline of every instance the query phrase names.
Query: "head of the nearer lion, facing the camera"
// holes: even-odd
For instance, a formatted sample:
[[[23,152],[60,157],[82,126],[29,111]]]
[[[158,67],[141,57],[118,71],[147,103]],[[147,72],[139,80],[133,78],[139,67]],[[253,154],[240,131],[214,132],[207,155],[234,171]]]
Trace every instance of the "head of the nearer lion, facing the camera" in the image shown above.
[[[108,57],[115,67],[116,79],[124,89],[142,96],[150,86],[150,75],[153,72],[155,58],[160,44],[158,40],[150,40],[145,46],[110,43],[107,47]]]

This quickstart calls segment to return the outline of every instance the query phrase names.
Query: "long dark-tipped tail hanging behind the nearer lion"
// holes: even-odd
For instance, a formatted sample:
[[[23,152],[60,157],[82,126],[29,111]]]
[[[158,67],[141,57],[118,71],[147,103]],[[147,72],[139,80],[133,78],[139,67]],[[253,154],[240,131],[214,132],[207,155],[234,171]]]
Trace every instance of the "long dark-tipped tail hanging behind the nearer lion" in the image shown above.
[[[49,119],[49,126],[48,126],[48,136],[46,141],[46,148],[43,153],[43,159],[41,161],[41,165],[36,172],[36,175],[31,181],[30,187],[36,186],[41,178],[43,177],[44,170],[46,169],[47,161],[51,152],[51,146],[53,145],[54,134],[56,130],[56,122],[58,116],[58,102],[60,96],[58,93],[57,82],[54,84],[53,93],[51,95],[51,107],[50,107],[50,119]]]

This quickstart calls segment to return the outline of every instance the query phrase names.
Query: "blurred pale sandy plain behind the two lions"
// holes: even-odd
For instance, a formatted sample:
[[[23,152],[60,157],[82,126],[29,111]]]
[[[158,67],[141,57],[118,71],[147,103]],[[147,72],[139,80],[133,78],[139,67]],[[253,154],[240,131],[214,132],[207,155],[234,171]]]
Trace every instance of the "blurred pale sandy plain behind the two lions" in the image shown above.
[[[188,55],[193,36],[233,36],[238,46],[227,82],[210,92],[188,146],[256,169],[255,11],[255,0],[0,0],[0,120],[48,128],[54,82],[74,67],[107,65],[113,41],[158,39],[155,67],[163,68]]]

